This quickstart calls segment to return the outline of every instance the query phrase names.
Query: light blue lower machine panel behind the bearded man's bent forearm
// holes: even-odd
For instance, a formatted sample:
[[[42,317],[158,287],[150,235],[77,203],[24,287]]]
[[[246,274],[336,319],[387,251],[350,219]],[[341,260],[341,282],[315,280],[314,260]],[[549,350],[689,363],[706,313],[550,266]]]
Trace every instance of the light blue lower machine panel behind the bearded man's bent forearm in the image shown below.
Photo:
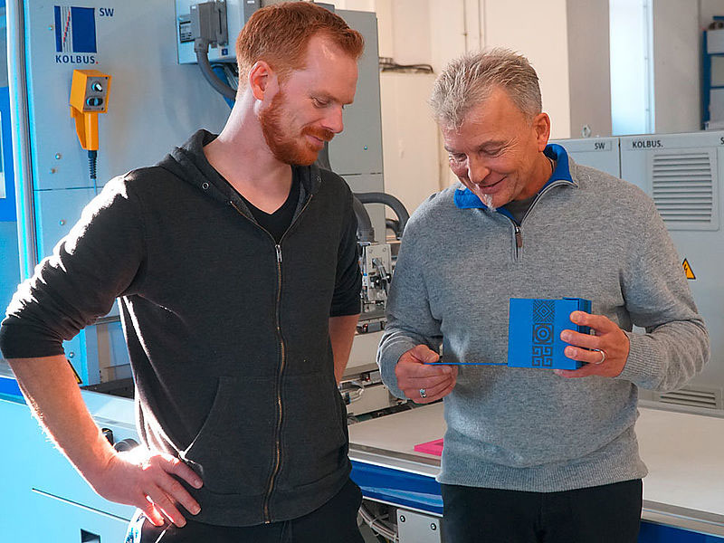
[[[0,365],[0,376],[8,371]],[[109,429],[116,443],[139,441],[132,400],[86,391],[81,395],[96,424]],[[0,493],[0,541],[123,541],[135,508],[100,498],[41,431],[27,405],[8,397],[0,397],[8,443],[0,462],[13,469],[5,470]],[[34,511],[30,522],[29,511]]]

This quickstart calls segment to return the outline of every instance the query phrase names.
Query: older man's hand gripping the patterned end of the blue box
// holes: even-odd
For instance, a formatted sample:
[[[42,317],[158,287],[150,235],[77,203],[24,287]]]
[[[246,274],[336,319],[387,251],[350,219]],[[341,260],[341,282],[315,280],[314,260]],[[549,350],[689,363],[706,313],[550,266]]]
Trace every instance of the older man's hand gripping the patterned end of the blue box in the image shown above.
[[[574,330],[563,330],[560,334],[560,338],[569,344],[564,350],[566,356],[587,364],[578,369],[556,369],[554,372],[563,377],[615,377],[621,374],[629,350],[629,339],[624,330],[603,315],[585,311],[573,311],[570,319],[578,326],[595,331],[595,336]]]

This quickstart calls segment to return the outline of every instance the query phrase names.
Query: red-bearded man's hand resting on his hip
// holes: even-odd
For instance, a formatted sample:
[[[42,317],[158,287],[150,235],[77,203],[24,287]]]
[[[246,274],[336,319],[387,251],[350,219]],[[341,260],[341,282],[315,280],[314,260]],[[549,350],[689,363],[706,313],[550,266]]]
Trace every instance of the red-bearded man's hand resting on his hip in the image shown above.
[[[176,505],[181,504],[193,515],[201,508],[172,475],[196,489],[202,486],[198,475],[170,454],[153,454],[139,459],[136,451],[111,455],[103,472],[92,480],[89,478],[89,482],[106,500],[143,510],[156,526],[162,526],[166,517],[182,527],[186,525],[186,519]]]

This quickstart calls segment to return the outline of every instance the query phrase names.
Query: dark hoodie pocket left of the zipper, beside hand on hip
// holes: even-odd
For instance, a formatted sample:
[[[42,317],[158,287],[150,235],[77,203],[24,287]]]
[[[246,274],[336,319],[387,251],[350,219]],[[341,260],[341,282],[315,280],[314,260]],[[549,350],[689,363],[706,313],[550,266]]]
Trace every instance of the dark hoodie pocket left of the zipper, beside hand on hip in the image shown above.
[[[273,377],[219,377],[214,404],[181,458],[217,494],[257,495],[271,470]]]

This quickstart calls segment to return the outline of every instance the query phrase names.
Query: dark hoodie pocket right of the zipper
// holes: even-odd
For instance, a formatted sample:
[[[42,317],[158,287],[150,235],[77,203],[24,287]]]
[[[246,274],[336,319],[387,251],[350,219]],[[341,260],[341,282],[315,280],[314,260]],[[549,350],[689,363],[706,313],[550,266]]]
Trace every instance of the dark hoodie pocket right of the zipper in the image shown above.
[[[296,488],[337,472],[347,465],[347,413],[334,383],[323,373],[285,378],[285,432],[281,478]]]

